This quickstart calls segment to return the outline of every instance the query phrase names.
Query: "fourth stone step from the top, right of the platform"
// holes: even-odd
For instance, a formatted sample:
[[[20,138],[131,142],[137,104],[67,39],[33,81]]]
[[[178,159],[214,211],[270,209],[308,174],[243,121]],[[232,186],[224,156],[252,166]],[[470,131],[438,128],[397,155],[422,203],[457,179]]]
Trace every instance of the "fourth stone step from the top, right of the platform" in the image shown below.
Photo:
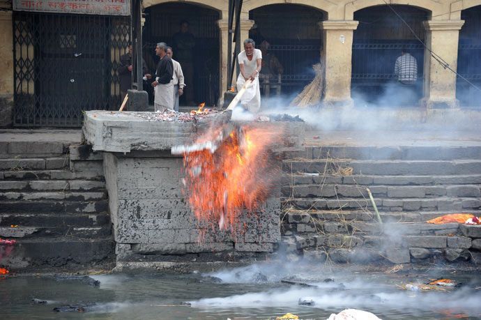
[[[372,195],[377,198],[434,198],[481,197],[481,185],[372,185]],[[284,197],[369,197],[364,185],[338,185],[331,183],[294,185],[282,187]]]

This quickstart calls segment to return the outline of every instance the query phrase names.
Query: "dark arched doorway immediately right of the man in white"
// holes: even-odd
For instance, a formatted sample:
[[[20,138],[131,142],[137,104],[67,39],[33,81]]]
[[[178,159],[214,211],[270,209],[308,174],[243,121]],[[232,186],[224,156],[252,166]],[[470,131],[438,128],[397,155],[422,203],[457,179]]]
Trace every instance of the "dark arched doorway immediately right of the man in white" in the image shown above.
[[[300,92],[304,86],[314,78],[312,65],[319,63],[319,54],[322,48],[322,33],[318,23],[325,20],[323,12],[307,6],[291,4],[272,4],[261,6],[249,12],[250,20],[254,20],[254,29],[257,34],[250,36],[257,40],[256,47],[261,47],[261,42],[269,43],[268,54],[263,56],[263,69],[266,73],[266,63],[273,74],[274,80],[280,82],[280,94],[291,96]],[[277,58],[280,67],[275,68],[271,63],[271,56]],[[279,75],[280,70],[280,77]],[[266,96],[266,86],[261,84],[261,94]],[[270,90],[270,96],[276,91]]]

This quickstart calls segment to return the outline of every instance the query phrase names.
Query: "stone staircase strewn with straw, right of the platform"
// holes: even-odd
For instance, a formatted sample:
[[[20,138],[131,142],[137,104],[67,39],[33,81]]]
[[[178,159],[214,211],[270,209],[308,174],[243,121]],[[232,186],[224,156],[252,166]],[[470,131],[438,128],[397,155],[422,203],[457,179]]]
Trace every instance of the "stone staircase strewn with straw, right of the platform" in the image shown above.
[[[291,152],[283,172],[288,252],[335,262],[481,264],[481,226],[425,223],[447,213],[481,216],[480,146],[313,146]]]

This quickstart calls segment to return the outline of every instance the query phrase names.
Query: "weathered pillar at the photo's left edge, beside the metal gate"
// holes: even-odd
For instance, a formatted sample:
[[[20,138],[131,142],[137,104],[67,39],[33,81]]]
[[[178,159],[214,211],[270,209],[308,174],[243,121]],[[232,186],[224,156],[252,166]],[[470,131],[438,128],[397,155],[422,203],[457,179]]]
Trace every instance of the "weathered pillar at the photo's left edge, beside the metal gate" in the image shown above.
[[[0,127],[12,125],[13,31],[12,12],[0,11]]]

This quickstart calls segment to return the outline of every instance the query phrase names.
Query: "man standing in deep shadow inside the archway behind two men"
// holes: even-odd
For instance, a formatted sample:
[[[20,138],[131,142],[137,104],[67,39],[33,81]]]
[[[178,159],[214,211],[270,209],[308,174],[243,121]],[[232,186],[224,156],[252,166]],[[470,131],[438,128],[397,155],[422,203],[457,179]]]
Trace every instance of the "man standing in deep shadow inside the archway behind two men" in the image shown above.
[[[194,47],[195,38],[189,32],[189,22],[181,22],[181,30],[174,34],[174,49],[176,49],[176,58],[183,68],[185,82],[189,84],[185,91],[185,102],[188,105],[196,105],[194,102]]]

